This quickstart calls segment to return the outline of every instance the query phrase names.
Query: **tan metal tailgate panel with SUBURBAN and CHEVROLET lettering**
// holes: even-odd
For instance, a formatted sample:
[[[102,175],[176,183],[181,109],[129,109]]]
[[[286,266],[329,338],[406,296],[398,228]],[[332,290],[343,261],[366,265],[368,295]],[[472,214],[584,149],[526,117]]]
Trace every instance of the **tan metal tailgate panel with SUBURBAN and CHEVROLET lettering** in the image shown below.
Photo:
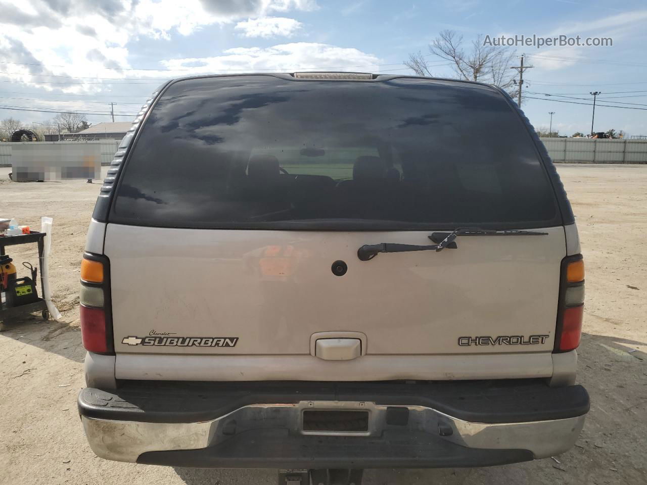
[[[550,352],[565,239],[541,231],[360,261],[363,244],[430,232],[108,224],[115,350],[310,354],[316,332],[360,332],[366,354]]]

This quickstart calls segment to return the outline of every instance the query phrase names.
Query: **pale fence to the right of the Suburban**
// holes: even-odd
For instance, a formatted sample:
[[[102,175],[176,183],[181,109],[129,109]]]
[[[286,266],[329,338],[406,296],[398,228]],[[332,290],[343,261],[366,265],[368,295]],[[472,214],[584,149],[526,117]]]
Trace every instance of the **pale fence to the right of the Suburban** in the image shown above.
[[[542,138],[553,162],[647,164],[647,140]]]

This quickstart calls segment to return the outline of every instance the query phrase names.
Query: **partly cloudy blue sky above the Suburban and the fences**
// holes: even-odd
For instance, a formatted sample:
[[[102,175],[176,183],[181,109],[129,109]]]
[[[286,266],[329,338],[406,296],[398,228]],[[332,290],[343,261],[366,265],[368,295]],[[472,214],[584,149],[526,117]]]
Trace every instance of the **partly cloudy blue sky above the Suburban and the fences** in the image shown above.
[[[536,127],[554,111],[560,133],[586,133],[588,93],[602,91],[600,105],[616,107],[596,109],[596,131],[647,135],[639,0],[0,0],[0,12],[0,120],[25,125],[57,110],[109,121],[110,102],[115,120],[127,121],[164,80],[191,74],[411,74],[408,54],[428,54],[438,32],[452,29],[466,42],[478,34],[613,38],[613,47],[516,48],[534,66],[524,74],[523,109]],[[428,61],[435,76],[452,76],[446,61]]]

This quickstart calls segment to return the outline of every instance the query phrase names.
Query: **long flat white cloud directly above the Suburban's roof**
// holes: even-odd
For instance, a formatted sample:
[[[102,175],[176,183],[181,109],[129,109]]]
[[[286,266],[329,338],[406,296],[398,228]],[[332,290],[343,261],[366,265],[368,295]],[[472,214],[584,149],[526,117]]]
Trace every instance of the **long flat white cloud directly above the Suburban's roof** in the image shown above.
[[[377,70],[380,59],[356,48],[337,47],[314,42],[293,42],[267,48],[232,48],[223,56],[209,58],[169,59],[169,69],[190,69],[186,74],[201,72],[247,72],[313,69]],[[199,66],[199,67],[195,67]]]

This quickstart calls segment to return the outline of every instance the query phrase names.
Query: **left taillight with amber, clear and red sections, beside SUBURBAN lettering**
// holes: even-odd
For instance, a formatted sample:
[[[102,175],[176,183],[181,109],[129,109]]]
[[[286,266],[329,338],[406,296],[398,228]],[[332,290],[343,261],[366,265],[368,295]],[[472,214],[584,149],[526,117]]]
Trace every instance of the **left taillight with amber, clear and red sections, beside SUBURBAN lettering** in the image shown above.
[[[107,257],[83,253],[79,297],[83,347],[97,354],[113,354],[110,305],[110,266]]]

